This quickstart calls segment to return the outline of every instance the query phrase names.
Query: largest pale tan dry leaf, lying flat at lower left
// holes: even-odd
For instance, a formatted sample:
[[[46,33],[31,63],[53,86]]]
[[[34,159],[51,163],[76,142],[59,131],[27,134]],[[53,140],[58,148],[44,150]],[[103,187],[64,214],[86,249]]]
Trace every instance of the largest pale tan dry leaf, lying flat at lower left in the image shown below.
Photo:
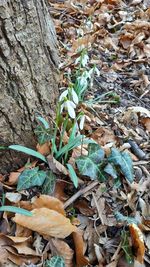
[[[32,213],[32,218],[16,214],[13,221],[41,235],[57,238],[65,238],[72,232],[77,231],[77,228],[71,224],[70,220],[57,211],[39,208],[32,210]]]

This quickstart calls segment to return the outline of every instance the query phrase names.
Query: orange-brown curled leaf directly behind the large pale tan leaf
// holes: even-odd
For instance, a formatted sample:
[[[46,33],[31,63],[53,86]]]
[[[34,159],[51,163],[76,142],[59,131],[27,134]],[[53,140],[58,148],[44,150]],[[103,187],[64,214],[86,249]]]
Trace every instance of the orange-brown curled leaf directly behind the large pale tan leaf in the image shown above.
[[[35,197],[32,199],[32,209],[43,207],[55,210],[65,216],[63,203],[55,197],[41,195],[40,197]]]

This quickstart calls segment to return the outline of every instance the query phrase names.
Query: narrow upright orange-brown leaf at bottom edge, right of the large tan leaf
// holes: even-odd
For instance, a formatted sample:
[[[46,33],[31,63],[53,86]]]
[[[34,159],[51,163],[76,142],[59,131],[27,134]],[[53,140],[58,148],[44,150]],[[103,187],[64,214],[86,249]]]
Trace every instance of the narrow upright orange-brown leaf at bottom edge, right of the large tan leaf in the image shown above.
[[[73,240],[76,252],[76,266],[82,267],[88,265],[89,261],[84,256],[84,242],[83,242],[82,232],[80,230],[73,232]]]

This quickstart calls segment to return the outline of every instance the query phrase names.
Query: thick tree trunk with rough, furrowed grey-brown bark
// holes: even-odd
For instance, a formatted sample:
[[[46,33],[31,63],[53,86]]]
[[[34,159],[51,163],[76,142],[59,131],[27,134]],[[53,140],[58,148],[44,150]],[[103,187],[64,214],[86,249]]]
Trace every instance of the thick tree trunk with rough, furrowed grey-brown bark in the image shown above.
[[[0,145],[33,147],[35,114],[54,114],[58,55],[46,4],[0,0]],[[18,160],[17,153],[0,152],[0,172],[23,159],[24,155]]]

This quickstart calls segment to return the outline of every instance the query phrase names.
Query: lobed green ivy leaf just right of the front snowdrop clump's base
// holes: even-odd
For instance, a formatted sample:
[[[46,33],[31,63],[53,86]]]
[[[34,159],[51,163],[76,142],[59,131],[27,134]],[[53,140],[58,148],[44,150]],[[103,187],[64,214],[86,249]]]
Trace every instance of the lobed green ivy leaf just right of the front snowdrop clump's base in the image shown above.
[[[104,150],[98,144],[89,144],[88,156],[81,156],[76,159],[79,172],[90,177],[92,180],[105,180],[103,172],[100,170],[100,163],[104,159]]]

